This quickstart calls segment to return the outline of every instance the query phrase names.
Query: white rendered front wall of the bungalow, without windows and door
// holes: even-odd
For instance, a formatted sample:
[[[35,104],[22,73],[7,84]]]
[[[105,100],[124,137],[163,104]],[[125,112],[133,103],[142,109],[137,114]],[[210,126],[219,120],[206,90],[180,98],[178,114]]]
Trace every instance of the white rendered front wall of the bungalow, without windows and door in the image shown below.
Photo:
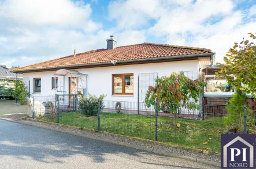
[[[172,72],[179,71],[198,71],[198,60],[185,60],[178,62],[164,62],[164,63],[147,63],[147,64],[133,64],[127,66],[110,66],[110,67],[96,67],[96,68],[81,68],[73,69],[88,76],[81,76],[79,78],[79,88],[86,88],[86,93],[95,94],[97,97],[101,94],[106,94],[106,101],[138,101],[138,75],[140,73],[157,72],[158,76],[170,75]],[[51,78],[53,78],[55,71],[29,72],[24,73],[23,77],[26,83],[30,80],[30,94],[31,96],[47,96],[57,94],[57,90],[51,89]],[[113,74],[133,74],[133,95],[112,95],[112,75]],[[65,89],[63,76],[58,77],[58,90],[65,91],[69,94],[69,76],[65,76]],[[34,93],[34,78],[41,78],[41,93]],[[87,81],[87,82],[86,82]],[[61,93],[63,94],[63,93]]]

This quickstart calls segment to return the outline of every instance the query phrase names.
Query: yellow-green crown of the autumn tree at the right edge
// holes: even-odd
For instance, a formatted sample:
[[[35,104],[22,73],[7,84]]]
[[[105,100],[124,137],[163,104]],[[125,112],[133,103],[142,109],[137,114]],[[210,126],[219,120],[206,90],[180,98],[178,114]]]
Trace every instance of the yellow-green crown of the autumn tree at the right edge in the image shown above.
[[[253,33],[252,39],[256,39]],[[235,43],[233,48],[227,52],[224,57],[225,64],[217,63],[220,70],[216,72],[218,77],[224,77],[236,90],[243,90],[245,93],[251,93],[256,98],[256,46],[253,42],[242,41]],[[233,78],[233,76],[235,78]],[[243,83],[243,86],[242,86]]]

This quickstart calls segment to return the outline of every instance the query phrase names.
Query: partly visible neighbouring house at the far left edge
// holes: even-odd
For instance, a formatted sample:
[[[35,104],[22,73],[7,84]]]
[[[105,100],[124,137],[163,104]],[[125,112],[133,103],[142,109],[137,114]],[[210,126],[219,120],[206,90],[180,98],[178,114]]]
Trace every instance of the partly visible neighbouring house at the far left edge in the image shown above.
[[[0,65],[0,86],[13,87],[14,83],[9,83],[10,81],[14,82],[16,79],[23,79],[23,74],[16,74],[12,72],[15,68],[17,67],[8,69],[6,66]]]

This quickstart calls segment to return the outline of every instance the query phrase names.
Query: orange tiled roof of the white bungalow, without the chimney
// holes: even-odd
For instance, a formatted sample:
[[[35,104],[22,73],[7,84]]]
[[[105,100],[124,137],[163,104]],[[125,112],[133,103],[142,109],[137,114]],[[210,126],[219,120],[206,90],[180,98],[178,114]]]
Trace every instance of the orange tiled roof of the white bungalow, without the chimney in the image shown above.
[[[46,62],[36,63],[25,67],[16,68],[13,71],[39,70],[44,68],[57,68],[65,66],[80,66],[86,64],[106,63],[112,60],[124,61],[146,59],[165,56],[191,55],[212,52],[210,49],[181,47],[154,43],[143,43],[117,47],[111,50],[98,49],[77,53],[76,56],[66,56]],[[118,63],[118,62],[117,62]]]

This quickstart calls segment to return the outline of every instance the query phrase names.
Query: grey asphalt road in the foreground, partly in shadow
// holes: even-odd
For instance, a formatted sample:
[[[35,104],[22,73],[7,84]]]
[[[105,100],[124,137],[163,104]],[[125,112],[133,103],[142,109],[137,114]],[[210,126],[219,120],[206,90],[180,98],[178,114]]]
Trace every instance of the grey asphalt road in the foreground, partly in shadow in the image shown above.
[[[216,168],[0,120],[0,168]]]

